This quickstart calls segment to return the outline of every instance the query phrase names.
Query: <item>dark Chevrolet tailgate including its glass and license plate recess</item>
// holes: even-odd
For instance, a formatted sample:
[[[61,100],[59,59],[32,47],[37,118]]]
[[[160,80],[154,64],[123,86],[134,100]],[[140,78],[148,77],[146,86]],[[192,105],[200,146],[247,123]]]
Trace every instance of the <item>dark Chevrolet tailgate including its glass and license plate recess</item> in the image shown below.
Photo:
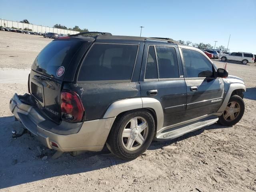
[[[30,93],[38,108],[60,122],[60,92],[64,76],[83,42],[75,38],[54,40],[36,57],[30,72]],[[74,62],[72,66],[75,67]]]

